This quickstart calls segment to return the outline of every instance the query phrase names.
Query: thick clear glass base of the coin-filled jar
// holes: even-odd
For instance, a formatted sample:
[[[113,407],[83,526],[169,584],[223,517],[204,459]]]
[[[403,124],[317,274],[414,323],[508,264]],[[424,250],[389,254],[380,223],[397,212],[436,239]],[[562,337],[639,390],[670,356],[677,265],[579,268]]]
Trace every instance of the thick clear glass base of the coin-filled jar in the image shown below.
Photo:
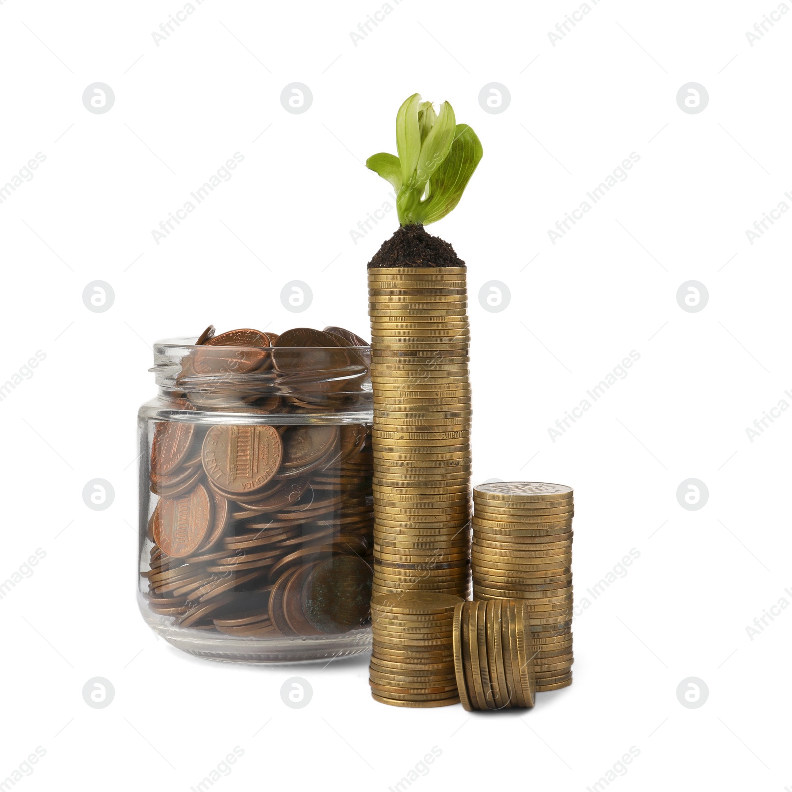
[[[310,663],[352,657],[371,651],[371,627],[348,633],[310,637],[247,638],[204,629],[173,627],[169,620],[146,606],[140,612],[148,626],[176,649],[207,660],[225,663]]]

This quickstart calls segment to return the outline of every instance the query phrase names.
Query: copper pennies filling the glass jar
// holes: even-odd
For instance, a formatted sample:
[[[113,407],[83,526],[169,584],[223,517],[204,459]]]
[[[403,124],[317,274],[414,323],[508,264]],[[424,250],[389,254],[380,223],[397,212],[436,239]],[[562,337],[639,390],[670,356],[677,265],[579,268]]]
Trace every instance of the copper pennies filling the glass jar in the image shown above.
[[[174,388],[183,390],[170,401],[178,412],[189,418],[200,405],[209,413],[296,415],[272,425],[263,416],[261,423],[154,423],[156,499],[140,572],[147,607],[174,627],[237,637],[364,626],[371,433],[326,423],[333,405],[354,398],[348,384],[360,378],[364,358],[352,347],[364,342],[338,327],[213,335],[209,327],[181,362]],[[301,423],[307,411],[324,422]]]

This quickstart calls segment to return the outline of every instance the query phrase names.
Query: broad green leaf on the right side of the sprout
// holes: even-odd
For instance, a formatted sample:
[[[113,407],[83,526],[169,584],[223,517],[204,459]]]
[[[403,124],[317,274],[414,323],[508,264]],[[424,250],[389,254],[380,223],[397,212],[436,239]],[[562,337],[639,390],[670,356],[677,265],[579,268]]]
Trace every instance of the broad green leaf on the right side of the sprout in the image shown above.
[[[459,203],[467,182],[473,175],[484,149],[476,133],[467,124],[457,124],[451,153],[432,173],[432,193],[413,210],[413,223],[435,223]]]

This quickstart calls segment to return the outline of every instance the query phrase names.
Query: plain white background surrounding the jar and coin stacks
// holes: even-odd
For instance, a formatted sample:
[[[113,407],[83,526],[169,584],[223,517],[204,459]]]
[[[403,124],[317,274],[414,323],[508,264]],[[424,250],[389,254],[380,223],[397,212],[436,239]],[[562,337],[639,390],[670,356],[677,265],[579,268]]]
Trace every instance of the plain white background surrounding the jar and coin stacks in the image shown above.
[[[0,780],[41,746],[14,789],[188,790],[238,746],[213,789],[386,790],[436,746],[410,789],[584,790],[635,746],[608,788],[782,790],[792,613],[777,608],[753,640],[746,627],[792,602],[792,415],[754,442],[746,427],[792,404],[792,216],[753,244],[745,231],[792,205],[792,14],[752,46],[745,33],[775,0],[590,0],[554,45],[577,0],[391,6],[355,44],[379,0],[205,0],[157,46],[181,0],[0,5],[0,184],[46,155],[0,204],[0,381],[46,354],[0,402],[0,580],[46,553],[0,601]],[[83,106],[93,82],[112,86],[109,113]],[[307,113],[281,106],[290,82],[310,86]],[[510,91],[504,113],[478,103],[489,82]],[[709,93],[702,113],[676,103],[687,82]],[[365,265],[397,221],[352,240],[390,201],[362,163],[395,151],[415,91],[451,101],[485,152],[458,209],[429,228],[469,266],[474,480],[575,488],[574,683],[534,710],[382,706],[365,658],[194,660],[156,640],[135,603],[150,344],[210,322],[367,335]],[[157,244],[152,229],[235,151],[233,178]],[[626,181],[553,244],[548,229],[633,151]],[[82,302],[94,280],[114,289],[106,312]],[[313,290],[304,314],[280,303],[291,280]],[[511,292],[502,312],[478,303],[490,280]],[[689,280],[708,289],[700,312],[677,304]],[[553,442],[548,428],[630,350],[628,376]],[[115,488],[106,511],[82,502],[93,478]],[[677,502],[688,478],[709,490],[699,511]],[[116,691],[103,710],[82,700],[97,675]],[[313,687],[302,710],[280,699],[292,675]],[[699,709],[677,700],[688,676],[709,688]]]

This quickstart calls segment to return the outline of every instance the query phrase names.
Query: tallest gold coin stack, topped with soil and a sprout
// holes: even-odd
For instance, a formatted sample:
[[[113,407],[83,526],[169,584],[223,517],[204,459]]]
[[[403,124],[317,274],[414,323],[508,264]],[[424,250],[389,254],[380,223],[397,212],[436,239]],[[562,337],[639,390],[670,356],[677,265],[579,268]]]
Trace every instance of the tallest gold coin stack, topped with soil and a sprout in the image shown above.
[[[464,267],[368,271],[375,593],[463,595],[470,577]]]

